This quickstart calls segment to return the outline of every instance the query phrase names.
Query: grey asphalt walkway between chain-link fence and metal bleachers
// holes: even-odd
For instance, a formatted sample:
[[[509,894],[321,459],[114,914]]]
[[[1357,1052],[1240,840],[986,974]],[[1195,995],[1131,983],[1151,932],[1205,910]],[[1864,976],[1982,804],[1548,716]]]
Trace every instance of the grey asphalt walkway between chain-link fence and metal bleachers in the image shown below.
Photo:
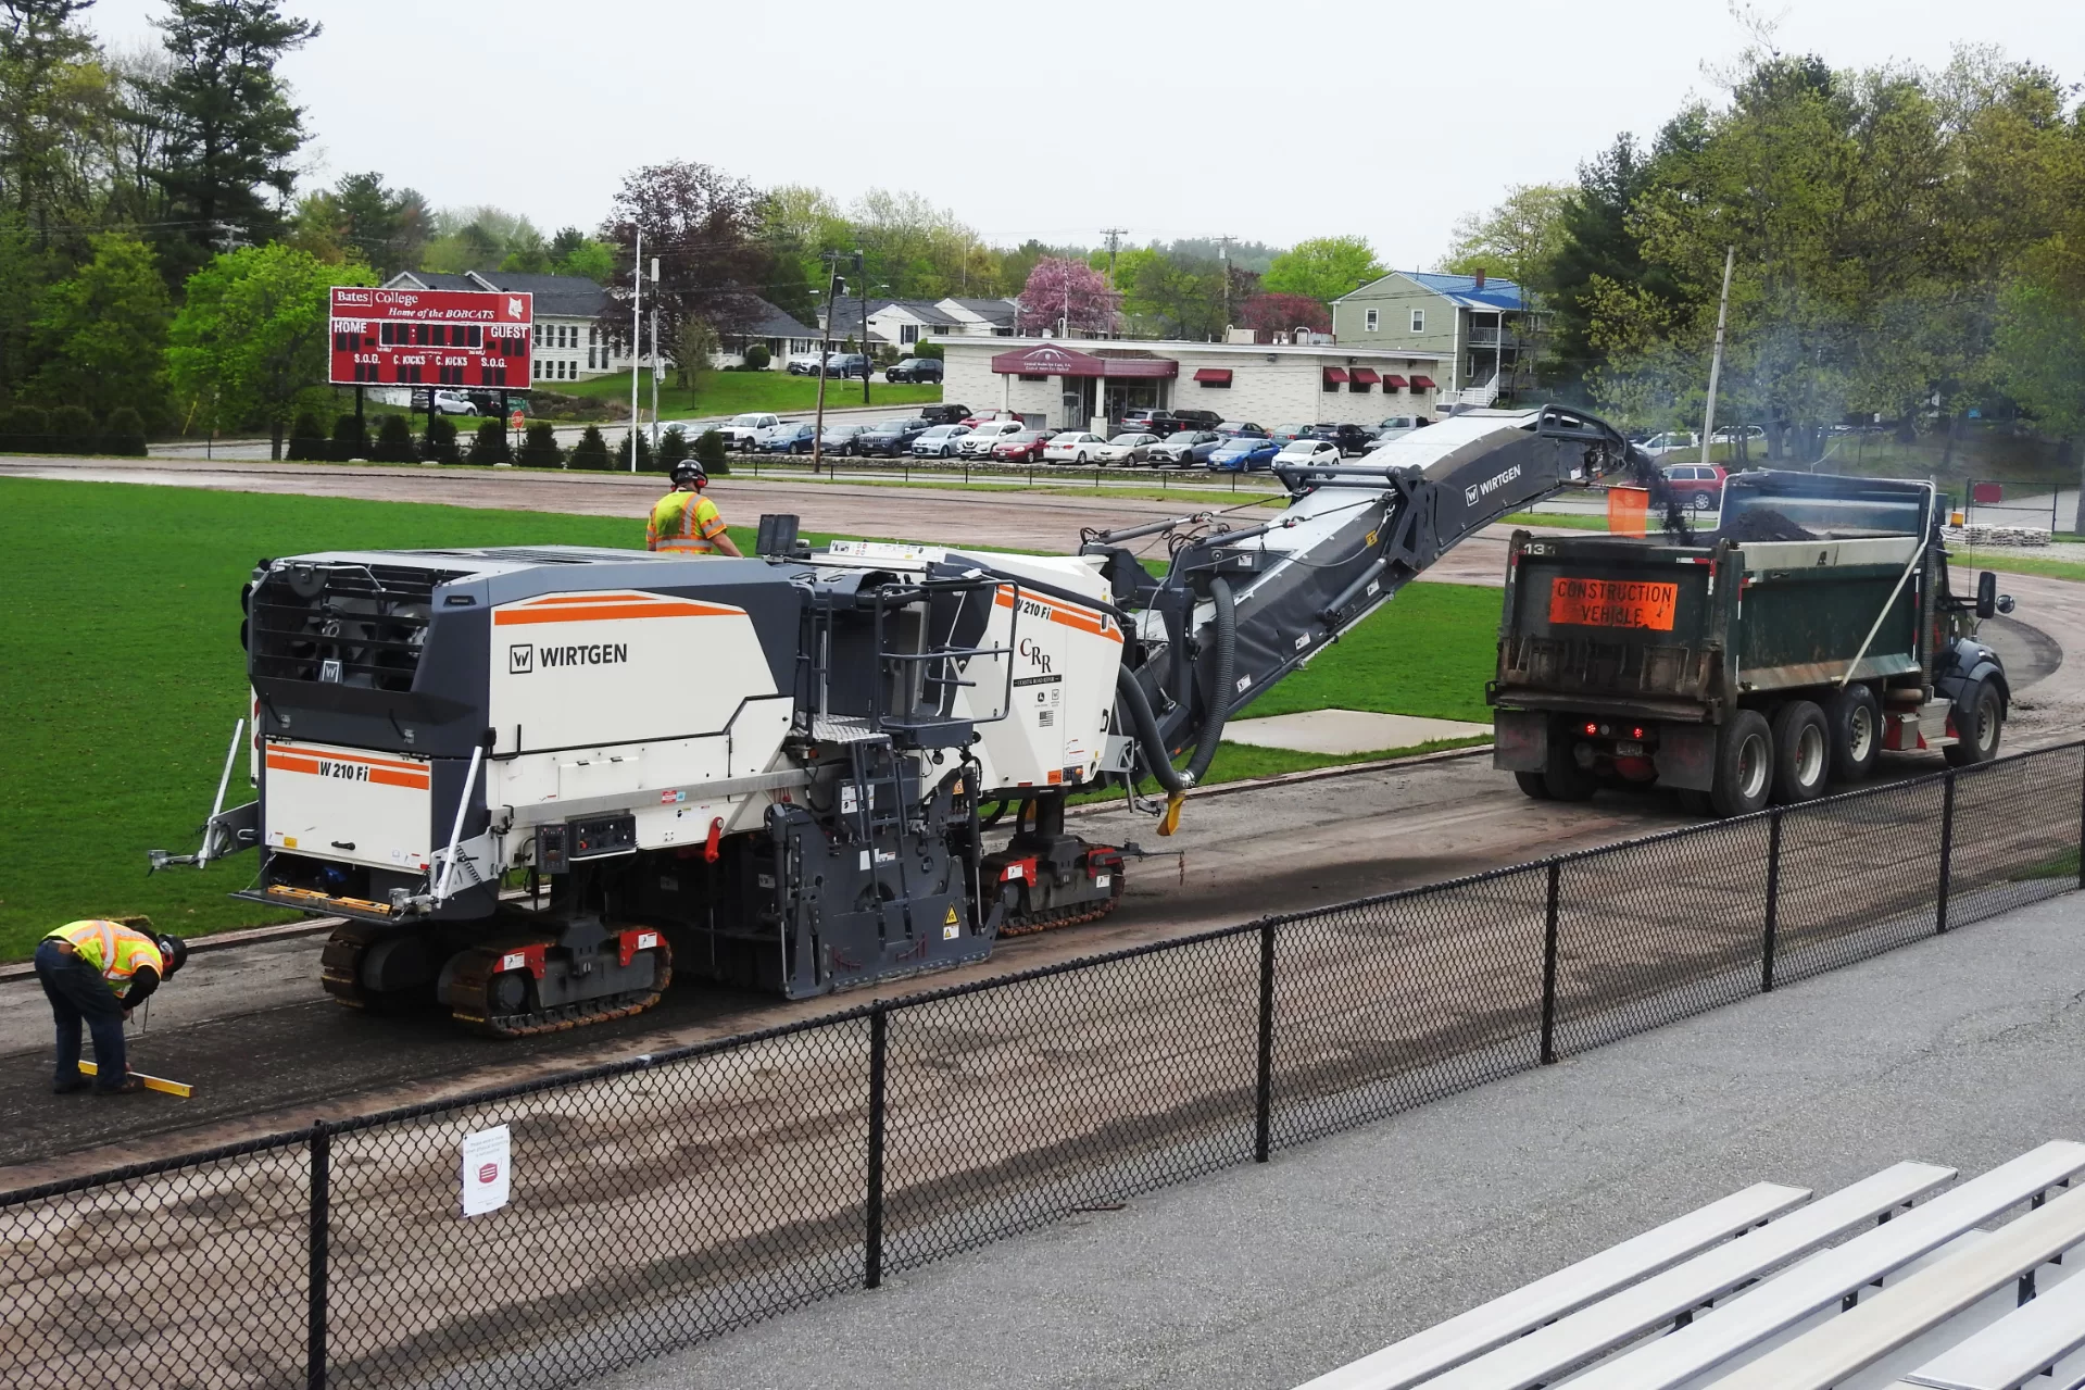
[[[2085,1140],[2085,897],[1130,1200],[594,1390],[1278,1390],[1770,1179]]]

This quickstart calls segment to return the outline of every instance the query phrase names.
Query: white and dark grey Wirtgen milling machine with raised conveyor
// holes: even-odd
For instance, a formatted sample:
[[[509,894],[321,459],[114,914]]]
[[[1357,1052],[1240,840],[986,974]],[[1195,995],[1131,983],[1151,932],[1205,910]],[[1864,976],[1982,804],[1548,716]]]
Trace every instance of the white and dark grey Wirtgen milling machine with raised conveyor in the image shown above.
[[[1478,526],[1624,461],[1653,472],[1587,415],[1489,411],[1284,470],[1266,520],[1065,557],[813,553],[765,518],[751,559],[267,559],[259,799],[154,864],[256,847],[244,897],[348,918],[327,991],[432,991],[498,1035],[642,1010],[673,970],[803,998],[982,960],[1122,897],[1065,797],[1155,778],[1170,833],[1226,718]],[[1132,541],[1168,543],[1163,578]]]

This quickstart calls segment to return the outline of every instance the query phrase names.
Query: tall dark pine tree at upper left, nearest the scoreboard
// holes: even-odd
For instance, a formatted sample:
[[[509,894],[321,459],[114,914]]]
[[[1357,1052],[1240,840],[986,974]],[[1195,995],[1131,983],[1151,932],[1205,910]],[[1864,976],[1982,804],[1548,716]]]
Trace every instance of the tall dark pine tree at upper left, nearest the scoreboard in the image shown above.
[[[173,65],[150,96],[165,123],[154,177],[179,221],[167,269],[179,278],[225,227],[254,242],[281,232],[277,209],[296,179],[290,161],[304,144],[304,113],[275,65],[321,29],[286,17],[275,0],[167,0],[167,10],[156,23]]]

